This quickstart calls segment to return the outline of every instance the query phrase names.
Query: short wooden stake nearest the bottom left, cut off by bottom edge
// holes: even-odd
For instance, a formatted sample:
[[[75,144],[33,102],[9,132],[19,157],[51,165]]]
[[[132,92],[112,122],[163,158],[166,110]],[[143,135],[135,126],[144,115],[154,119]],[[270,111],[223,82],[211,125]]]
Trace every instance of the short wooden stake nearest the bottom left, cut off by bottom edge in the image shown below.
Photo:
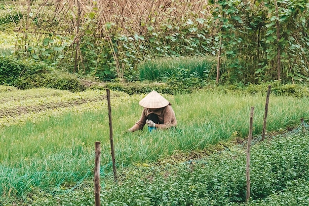
[[[100,206],[100,142],[95,142],[95,166],[94,166],[94,202],[95,206]]]

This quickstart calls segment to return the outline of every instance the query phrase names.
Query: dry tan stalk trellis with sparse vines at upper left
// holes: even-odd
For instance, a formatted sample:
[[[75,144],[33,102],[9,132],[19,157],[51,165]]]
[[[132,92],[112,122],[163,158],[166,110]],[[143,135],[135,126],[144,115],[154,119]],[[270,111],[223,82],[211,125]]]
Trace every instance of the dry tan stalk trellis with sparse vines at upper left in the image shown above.
[[[209,15],[205,12],[207,2],[200,0],[26,0],[14,4],[23,13],[15,29],[23,34],[17,46],[19,55],[66,58],[74,62],[74,71],[80,67],[85,71],[85,65],[89,64],[81,45],[88,48],[103,45],[109,53],[103,56],[113,59],[109,63],[121,76],[125,66],[123,62],[119,64],[115,36],[144,41],[141,36],[149,35],[150,31],[165,29],[168,34],[171,25],[186,22],[189,13],[198,14],[198,18]]]

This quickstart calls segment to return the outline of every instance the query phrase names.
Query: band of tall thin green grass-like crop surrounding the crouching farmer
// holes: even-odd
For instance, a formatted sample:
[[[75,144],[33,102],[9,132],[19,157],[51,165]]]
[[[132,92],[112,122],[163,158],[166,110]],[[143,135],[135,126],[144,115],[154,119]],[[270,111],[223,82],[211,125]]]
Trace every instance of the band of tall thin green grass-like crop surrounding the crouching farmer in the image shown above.
[[[262,132],[265,94],[199,91],[165,97],[178,120],[176,128],[166,131],[149,133],[144,128],[127,133],[139,119],[142,107],[128,99],[112,108],[118,167],[153,162],[178,151],[203,150],[233,137],[245,138],[251,106],[255,107],[253,132]],[[268,131],[298,125],[302,117],[309,118],[308,98],[270,97]],[[106,108],[4,127],[0,133],[0,195],[23,197],[35,187],[72,187],[92,178],[95,141],[101,141],[104,175],[111,172]]]

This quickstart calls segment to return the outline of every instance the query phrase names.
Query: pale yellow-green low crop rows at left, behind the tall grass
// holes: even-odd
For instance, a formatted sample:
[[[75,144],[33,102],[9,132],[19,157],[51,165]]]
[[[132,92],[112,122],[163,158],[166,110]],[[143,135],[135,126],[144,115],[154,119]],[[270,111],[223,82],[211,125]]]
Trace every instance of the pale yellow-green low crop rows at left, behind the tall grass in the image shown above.
[[[137,96],[138,97],[138,96]],[[111,93],[113,106],[130,102],[134,97],[121,92]],[[0,127],[19,124],[27,120],[34,122],[42,116],[56,116],[64,112],[81,112],[106,107],[104,90],[87,90],[72,93],[55,89],[18,90],[0,86]]]

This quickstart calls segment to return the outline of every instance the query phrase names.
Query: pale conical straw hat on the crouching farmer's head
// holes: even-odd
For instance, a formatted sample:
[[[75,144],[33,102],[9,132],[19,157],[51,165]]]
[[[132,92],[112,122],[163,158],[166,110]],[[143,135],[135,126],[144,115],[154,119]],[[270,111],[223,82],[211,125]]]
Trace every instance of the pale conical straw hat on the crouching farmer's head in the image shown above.
[[[167,106],[169,102],[156,91],[152,91],[139,104],[145,108],[157,109]]]

